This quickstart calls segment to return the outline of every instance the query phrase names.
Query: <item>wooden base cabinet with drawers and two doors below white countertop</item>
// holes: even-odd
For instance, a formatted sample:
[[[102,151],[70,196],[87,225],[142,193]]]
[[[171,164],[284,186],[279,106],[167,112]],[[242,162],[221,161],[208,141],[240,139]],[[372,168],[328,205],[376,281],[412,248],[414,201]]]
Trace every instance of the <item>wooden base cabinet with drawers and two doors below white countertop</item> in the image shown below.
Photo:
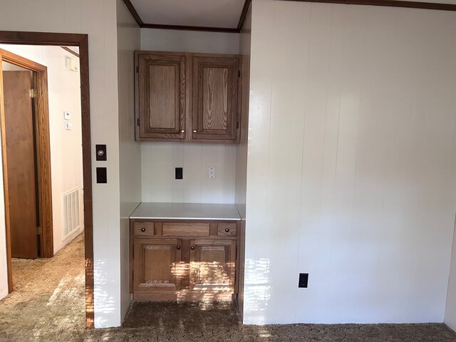
[[[130,220],[135,300],[232,299],[238,222]]]

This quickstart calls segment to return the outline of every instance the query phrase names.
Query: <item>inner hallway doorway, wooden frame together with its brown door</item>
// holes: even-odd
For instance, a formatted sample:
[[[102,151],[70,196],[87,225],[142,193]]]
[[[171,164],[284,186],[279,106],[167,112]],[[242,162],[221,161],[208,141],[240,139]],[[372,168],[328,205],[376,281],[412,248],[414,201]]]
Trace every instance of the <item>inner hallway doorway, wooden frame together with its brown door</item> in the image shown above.
[[[7,243],[13,258],[53,257],[47,68],[1,48],[0,58]]]

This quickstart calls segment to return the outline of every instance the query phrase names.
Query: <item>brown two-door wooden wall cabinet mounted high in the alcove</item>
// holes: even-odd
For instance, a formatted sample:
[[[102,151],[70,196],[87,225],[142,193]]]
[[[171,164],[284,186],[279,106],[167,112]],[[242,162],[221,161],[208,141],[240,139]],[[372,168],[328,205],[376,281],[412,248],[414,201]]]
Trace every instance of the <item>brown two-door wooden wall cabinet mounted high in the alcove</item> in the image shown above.
[[[135,51],[135,139],[239,142],[241,58]]]

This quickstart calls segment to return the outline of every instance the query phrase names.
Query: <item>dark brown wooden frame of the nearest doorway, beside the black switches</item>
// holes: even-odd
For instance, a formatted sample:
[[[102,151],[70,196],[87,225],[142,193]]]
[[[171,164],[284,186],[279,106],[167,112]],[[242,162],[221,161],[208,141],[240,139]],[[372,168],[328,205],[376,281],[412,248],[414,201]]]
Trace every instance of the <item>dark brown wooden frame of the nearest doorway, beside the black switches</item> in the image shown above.
[[[89,87],[89,63],[88,63],[88,35],[78,33],[48,33],[48,32],[23,32],[23,31],[0,31],[0,43],[38,45],[38,46],[78,46],[80,55],[81,77],[81,123],[83,141],[83,187],[84,187],[84,244],[85,244],[85,270],[86,270],[86,327],[94,327],[93,311],[93,206],[92,206],[92,160],[90,142],[90,87]],[[3,82],[0,83],[3,87]],[[2,91],[3,89],[0,88]],[[3,101],[3,100],[1,100]],[[3,113],[3,102],[0,110]],[[46,111],[48,111],[46,105]],[[3,125],[2,125],[3,128]],[[3,134],[3,132],[2,132]],[[3,142],[2,142],[3,145]],[[48,168],[50,165],[47,166]],[[49,170],[49,175],[50,175]],[[7,193],[5,192],[5,199]],[[6,202],[5,202],[6,203]],[[5,214],[7,211],[5,212]],[[51,217],[52,219],[52,217]],[[9,227],[9,217],[5,216]],[[9,232],[7,231],[7,234]],[[11,251],[9,253],[11,273]]]

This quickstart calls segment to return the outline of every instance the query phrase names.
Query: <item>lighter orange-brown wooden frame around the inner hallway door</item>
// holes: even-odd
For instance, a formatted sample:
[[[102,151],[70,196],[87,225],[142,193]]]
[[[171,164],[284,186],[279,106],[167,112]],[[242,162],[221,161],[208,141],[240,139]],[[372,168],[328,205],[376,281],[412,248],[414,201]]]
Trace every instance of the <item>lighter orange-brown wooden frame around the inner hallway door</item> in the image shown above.
[[[0,63],[5,61],[15,66],[20,66],[33,72],[33,89],[36,90],[36,98],[33,106],[36,113],[36,173],[38,175],[38,212],[40,227],[40,257],[51,258],[54,255],[53,248],[53,222],[52,222],[52,187],[51,187],[51,144],[49,138],[49,106],[48,106],[48,68],[41,64],[30,61],[27,58],[16,55],[0,48]],[[0,66],[1,70],[1,66]],[[0,81],[2,75],[0,75]],[[0,90],[0,95],[1,95]],[[0,105],[1,136],[6,137],[4,108]],[[11,255],[11,227],[9,215],[9,184],[8,184],[8,154],[6,151],[6,139],[1,142],[3,155],[4,192],[5,192],[5,219],[6,219],[6,251]],[[7,260],[11,269],[11,257]],[[9,292],[13,291],[11,271],[8,272]]]

